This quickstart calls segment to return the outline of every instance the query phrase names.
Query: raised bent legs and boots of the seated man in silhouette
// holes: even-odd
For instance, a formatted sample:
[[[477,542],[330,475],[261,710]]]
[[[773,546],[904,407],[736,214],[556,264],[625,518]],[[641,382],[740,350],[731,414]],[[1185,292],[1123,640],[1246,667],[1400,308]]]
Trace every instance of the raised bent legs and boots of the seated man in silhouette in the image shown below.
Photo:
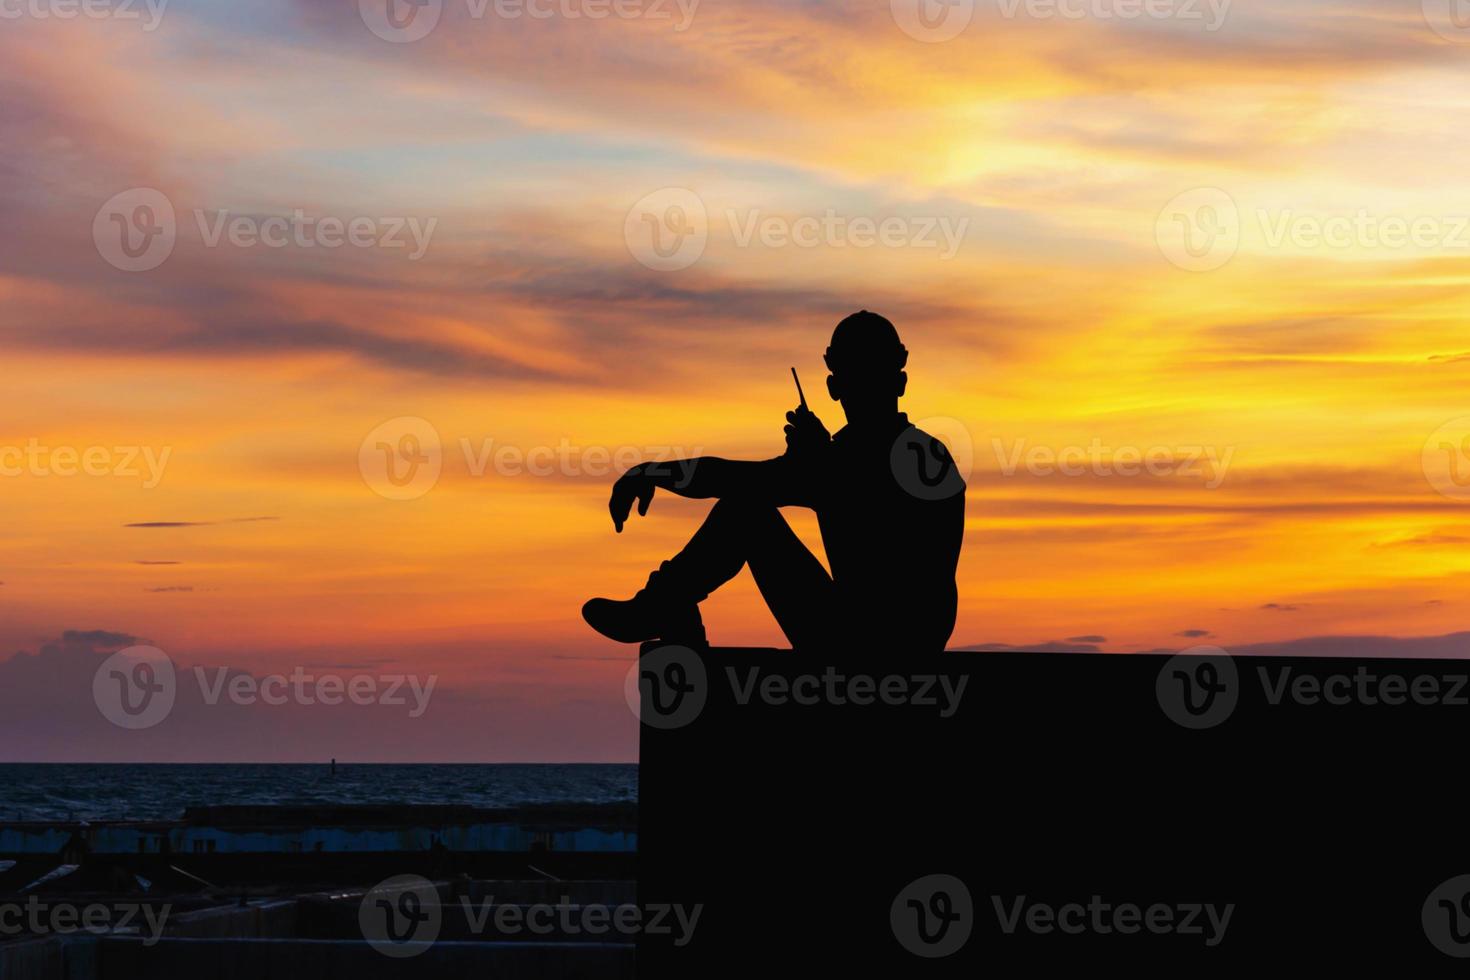
[[[622,642],[670,639],[698,624],[698,602],[750,564],[756,586],[792,646],[820,645],[829,624],[832,579],[776,507],[725,498],[684,551],[626,602],[591,599],[587,621]],[[703,626],[698,626],[703,636]]]

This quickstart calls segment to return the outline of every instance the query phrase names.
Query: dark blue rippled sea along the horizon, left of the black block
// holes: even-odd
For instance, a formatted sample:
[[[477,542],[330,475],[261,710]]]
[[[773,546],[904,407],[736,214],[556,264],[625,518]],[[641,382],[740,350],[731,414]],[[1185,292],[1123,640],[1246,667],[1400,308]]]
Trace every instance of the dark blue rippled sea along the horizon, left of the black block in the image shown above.
[[[637,765],[0,764],[0,820],[172,820],[223,804],[637,802]]]

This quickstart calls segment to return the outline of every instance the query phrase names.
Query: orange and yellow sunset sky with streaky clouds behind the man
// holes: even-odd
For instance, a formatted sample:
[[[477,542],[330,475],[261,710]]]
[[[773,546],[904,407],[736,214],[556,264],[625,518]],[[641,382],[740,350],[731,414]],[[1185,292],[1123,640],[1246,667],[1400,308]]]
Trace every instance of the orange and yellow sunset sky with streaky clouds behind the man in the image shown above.
[[[632,651],[578,608],[631,595],[709,504],[614,535],[617,460],[778,454],[791,366],[836,429],[820,354],[857,309],[895,322],[903,407],[969,467],[951,646],[1466,626],[1448,0],[428,0],[417,40],[385,3],[412,12],[4,6],[0,657],[137,638],[254,674],[435,673],[487,727],[365,752],[635,758]],[[159,198],[172,251],[119,267]],[[298,212],[363,238],[215,237]],[[660,262],[648,215],[703,251]],[[379,492],[369,433],[395,419],[429,429],[392,445],[438,439],[426,492]],[[16,464],[29,445],[106,472]],[[704,617],[782,642],[744,576]]]

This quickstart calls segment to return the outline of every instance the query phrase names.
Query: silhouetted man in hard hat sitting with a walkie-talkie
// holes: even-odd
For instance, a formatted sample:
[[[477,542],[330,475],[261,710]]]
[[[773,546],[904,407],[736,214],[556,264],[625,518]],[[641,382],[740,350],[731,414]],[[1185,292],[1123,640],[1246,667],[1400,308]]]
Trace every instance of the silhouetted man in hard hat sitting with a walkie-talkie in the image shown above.
[[[623,473],[607,505],[619,533],[634,501],[645,514],[660,488],[719,502],[642,591],[622,602],[589,599],[584,619],[625,644],[704,645],[698,604],[748,564],[795,649],[944,649],[954,629],[964,479],[944,444],[898,411],[907,363],[892,323],[854,313],[826,350],[828,394],[847,414],[835,436],[798,406],[786,413],[786,453],[773,460],[700,457]],[[816,511],[831,576],[781,507]]]

